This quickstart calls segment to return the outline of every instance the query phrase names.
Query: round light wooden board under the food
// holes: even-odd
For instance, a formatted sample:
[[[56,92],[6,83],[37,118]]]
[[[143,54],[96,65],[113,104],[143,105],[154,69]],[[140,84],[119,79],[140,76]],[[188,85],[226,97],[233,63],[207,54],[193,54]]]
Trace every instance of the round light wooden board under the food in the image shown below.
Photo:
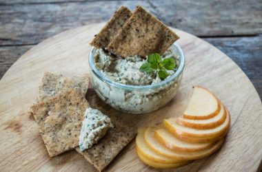
[[[10,67],[0,83],[0,171],[93,171],[76,151],[49,158],[28,109],[37,96],[43,72],[81,76],[88,72],[88,43],[104,23],[85,25],[39,43]],[[179,94],[168,105],[150,114],[127,115],[105,105],[88,91],[92,107],[117,113],[136,127],[159,124],[163,118],[180,116],[192,94],[193,85],[210,89],[228,107],[232,116],[230,133],[214,155],[196,160],[177,171],[256,171],[262,158],[261,100],[252,83],[228,56],[205,41],[181,30],[186,59]],[[90,93],[89,93],[90,92]],[[106,171],[154,171],[137,158],[134,140]],[[174,171],[171,170],[171,171]]]

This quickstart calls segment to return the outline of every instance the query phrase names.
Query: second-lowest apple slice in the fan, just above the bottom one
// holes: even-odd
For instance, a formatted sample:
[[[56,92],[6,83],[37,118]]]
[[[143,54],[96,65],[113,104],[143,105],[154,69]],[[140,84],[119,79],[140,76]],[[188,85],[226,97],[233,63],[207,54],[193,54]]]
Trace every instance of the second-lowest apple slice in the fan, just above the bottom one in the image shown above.
[[[144,133],[145,133],[145,128],[139,129],[136,138],[136,148],[137,151],[141,153],[141,155],[143,155],[145,158],[148,158],[149,160],[152,160],[153,162],[159,162],[165,164],[174,164],[177,162],[181,162],[179,160],[175,160],[173,158],[169,158],[167,156],[161,155],[155,152],[150,147],[148,147],[148,145],[145,143]]]

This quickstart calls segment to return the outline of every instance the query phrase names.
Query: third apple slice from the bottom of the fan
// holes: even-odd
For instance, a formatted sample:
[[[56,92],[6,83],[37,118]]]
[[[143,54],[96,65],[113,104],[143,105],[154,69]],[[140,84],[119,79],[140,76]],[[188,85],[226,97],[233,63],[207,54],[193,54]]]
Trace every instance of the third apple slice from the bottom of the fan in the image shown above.
[[[221,147],[223,143],[223,139],[221,139],[218,142],[216,142],[212,147],[207,148],[203,151],[196,151],[196,152],[174,151],[172,149],[169,149],[168,147],[165,147],[164,144],[161,144],[161,142],[157,140],[157,138],[154,135],[156,130],[157,128],[155,127],[149,127],[148,129],[146,129],[145,142],[148,144],[148,146],[151,149],[153,149],[157,153],[177,160],[196,160],[196,159],[207,157],[208,155],[211,155],[217,149],[219,149],[219,147]]]

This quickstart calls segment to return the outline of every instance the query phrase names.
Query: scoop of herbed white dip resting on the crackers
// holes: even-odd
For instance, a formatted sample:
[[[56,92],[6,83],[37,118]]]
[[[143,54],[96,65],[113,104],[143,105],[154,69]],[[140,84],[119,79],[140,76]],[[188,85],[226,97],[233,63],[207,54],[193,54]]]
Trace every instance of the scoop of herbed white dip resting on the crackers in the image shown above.
[[[113,127],[110,118],[97,109],[88,108],[83,115],[83,122],[79,136],[81,151],[92,147],[101,139],[106,131]]]

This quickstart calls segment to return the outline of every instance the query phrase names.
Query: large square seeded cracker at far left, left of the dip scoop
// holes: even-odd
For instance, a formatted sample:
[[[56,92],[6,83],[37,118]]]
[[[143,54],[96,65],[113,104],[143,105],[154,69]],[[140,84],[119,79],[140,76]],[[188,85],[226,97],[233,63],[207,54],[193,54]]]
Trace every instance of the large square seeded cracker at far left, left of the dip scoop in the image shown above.
[[[50,157],[78,147],[83,113],[87,107],[87,100],[74,89],[31,107]]]

